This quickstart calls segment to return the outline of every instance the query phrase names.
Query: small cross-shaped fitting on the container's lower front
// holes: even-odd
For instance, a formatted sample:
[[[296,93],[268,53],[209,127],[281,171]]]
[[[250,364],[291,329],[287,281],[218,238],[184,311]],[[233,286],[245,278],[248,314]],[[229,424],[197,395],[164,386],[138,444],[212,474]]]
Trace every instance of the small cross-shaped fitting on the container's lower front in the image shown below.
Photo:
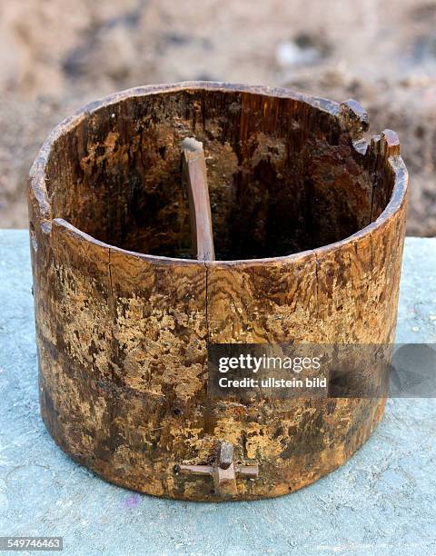
[[[235,465],[233,462],[233,444],[221,442],[213,465],[179,465],[178,470],[184,474],[209,475],[213,477],[215,494],[234,496],[238,493],[236,477],[258,477],[258,465]]]

